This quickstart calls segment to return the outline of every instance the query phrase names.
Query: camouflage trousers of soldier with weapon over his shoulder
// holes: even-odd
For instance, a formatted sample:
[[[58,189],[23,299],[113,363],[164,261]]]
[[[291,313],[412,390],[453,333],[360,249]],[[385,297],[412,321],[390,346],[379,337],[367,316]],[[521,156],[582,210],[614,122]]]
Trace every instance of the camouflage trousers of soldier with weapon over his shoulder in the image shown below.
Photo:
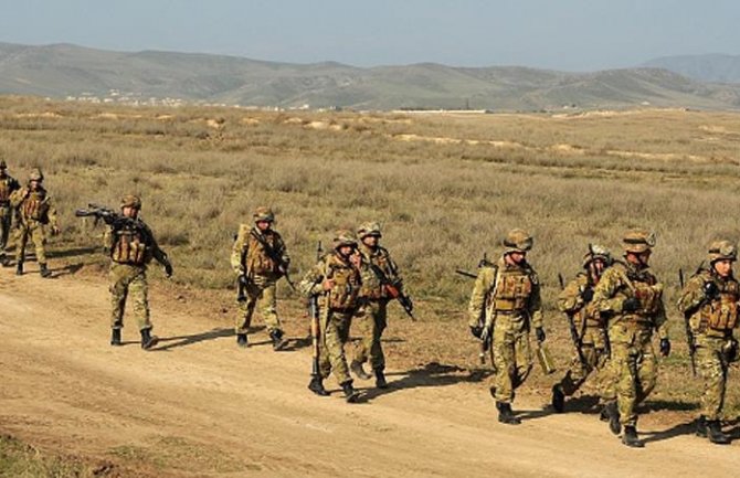
[[[124,311],[126,300],[130,297],[134,304],[134,317],[139,330],[150,329],[149,320],[149,287],[147,285],[146,267],[129,264],[110,264],[110,328],[124,327]]]

